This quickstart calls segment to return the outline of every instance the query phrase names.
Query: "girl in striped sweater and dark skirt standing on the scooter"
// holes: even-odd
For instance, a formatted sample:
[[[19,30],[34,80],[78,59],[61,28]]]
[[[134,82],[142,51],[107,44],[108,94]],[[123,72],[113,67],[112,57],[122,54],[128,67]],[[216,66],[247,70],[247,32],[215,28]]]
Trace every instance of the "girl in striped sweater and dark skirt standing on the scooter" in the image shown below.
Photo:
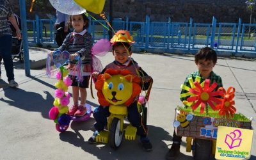
[[[86,97],[90,74],[92,72],[92,35],[86,30],[89,26],[89,19],[83,13],[81,15],[71,15],[70,21],[74,31],[69,33],[65,38],[63,44],[56,50],[68,51],[70,59],[68,60],[67,69],[69,70],[68,76],[72,79],[72,97],[74,104],[69,109],[68,115],[84,116],[86,114]],[[52,53],[51,53],[52,54]],[[82,60],[83,81],[77,81],[79,74],[75,65],[77,64],[76,57],[79,56]],[[80,92],[81,103],[78,103]]]

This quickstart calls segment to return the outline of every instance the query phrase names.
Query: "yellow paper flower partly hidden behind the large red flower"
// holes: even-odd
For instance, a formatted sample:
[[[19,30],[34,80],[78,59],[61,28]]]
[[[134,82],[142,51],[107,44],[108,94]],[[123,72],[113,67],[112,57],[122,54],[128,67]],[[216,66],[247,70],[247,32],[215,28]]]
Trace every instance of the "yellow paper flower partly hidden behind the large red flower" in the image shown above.
[[[196,82],[198,82],[198,83],[200,83],[200,80],[201,80],[201,77],[199,77],[199,76],[196,76],[196,78],[195,78],[195,81]],[[180,94],[180,98],[184,98],[184,97],[188,97],[188,96],[194,96],[194,94],[193,93],[191,93],[191,92],[189,92],[189,90],[190,89],[193,89],[193,88],[195,88],[195,84],[194,84],[194,81],[193,81],[193,78],[192,77],[189,77],[188,78],[188,81],[189,81],[189,86],[186,86],[186,85],[184,85],[184,84],[181,84],[181,86],[180,86],[180,88],[182,88],[182,90],[186,90],[186,91],[188,91],[188,92],[186,92],[186,93],[182,93],[182,94]],[[204,86],[204,81],[200,84],[201,86]],[[187,100],[184,100],[183,101],[183,104],[185,104],[186,106],[191,106],[192,104],[193,104],[193,102],[188,102]]]

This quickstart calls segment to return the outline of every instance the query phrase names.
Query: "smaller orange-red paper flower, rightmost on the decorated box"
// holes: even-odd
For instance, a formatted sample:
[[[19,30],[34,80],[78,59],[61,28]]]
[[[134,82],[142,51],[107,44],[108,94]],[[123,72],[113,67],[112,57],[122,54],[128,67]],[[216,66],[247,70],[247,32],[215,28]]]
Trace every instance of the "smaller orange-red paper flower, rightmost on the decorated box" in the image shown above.
[[[221,99],[221,104],[218,104],[216,108],[220,109],[219,115],[232,117],[236,113],[236,108],[234,108],[234,97],[235,97],[235,88],[229,87],[227,92],[224,88],[221,88],[224,93],[223,99]],[[220,89],[220,90],[221,90]]]

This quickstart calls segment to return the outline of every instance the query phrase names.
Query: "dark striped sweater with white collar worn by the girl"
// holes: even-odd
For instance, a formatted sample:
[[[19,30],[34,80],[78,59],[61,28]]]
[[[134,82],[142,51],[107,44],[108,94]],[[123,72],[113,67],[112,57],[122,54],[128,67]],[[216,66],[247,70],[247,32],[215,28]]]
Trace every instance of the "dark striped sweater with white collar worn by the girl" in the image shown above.
[[[69,54],[77,53],[83,64],[92,64],[92,45],[92,35],[87,31],[83,35],[72,32],[66,36],[63,44],[56,50],[68,51]],[[68,63],[76,64],[77,60],[68,60]]]

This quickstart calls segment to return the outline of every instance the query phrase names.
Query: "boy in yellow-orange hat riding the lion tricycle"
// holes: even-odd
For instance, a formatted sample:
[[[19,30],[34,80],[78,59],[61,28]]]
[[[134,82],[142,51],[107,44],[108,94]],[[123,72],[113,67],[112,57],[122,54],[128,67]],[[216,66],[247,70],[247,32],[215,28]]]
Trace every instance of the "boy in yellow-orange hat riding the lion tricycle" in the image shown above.
[[[147,75],[147,73],[139,67],[136,61],[131,58],[131,43],[132,36],[128,31],[118,31],[116,35],[111,39],[112,43],[112,53],[115,58],[115,61],[109,63],[104,70],[102,70],[101,74],[105,72],[108,68],[113,68],[116,70],[129,70],[132,74],[136,76],[140,76],[143,84],[141,83],[142,90],[147,90],[149,86],[149,82],[151,77]],[[132,63],[133,62],[133,63]],[[93,72],[92,76],[97,78],[99,72]],[[142,147],[146,151],[152,150],[152,144],[147,137],[147,126],[143,123],[142,117],[138,112],[137,108],[138,100],[134,100],[132,104],[127,108],[128,109],[128,120],[134,127],[137,127],[137,134],[140,135],[140,140],[142,143]],[[96,131],[93,133],[93,136],[88,140],[90,143],[96,143],[96,136],[100,131],[104,130],[104,126],[107,124],[107,117],[110,115],[109,106],[99,106],[94,109],[93,116],[96,120],[94,127]]]

